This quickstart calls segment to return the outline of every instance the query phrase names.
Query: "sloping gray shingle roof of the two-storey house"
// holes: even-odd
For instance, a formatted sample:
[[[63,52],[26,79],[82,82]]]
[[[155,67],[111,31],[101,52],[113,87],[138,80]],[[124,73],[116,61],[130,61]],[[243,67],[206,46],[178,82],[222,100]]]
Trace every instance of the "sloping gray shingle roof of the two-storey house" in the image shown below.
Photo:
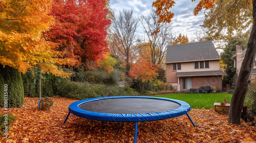
[[[165,63],[215,60],[220,56],[211,40],[169,45],[166,52]]]

